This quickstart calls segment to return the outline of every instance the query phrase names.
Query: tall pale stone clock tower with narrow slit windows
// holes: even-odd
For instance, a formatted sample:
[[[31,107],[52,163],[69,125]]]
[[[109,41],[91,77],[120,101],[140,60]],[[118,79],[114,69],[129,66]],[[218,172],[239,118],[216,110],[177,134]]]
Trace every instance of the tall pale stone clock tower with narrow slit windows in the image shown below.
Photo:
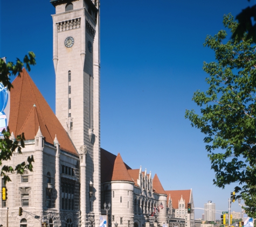
[[[51,0],[56,116],[79,152],[80,221],[100,215],[99,0]],[[65,160],[63,160],[65,161]],[[90,221],[91,220],[91,221]],[[91,223],[91,224],[92,224]]]

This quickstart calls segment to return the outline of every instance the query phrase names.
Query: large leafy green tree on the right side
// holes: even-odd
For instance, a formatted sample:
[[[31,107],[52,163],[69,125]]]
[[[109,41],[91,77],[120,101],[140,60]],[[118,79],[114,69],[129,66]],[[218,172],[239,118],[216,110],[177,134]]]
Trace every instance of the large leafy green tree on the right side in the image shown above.
[[[224,26],[233,34],[238,23],[225,15]],[[209,89],[197,90],[192,100],[200,107],[186,110],[185,118],[206,136],[206,151],[215,171],[213,184],[224,188],[236,183],[237,198],[256,217],[256,46],[244,33],[226,41],[227,32],[207,36],[204,46],[215,51],[215,62],[203,64]]]

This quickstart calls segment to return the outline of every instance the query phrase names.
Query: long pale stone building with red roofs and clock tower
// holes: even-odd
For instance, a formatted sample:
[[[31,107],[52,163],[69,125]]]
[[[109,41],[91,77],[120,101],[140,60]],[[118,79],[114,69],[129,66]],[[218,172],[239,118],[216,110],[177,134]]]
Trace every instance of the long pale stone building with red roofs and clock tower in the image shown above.
[[[50,2],[56,8],[56,115],[23,69],[13,81],[6,117],[11,139],[24,132],[25,148],[8,165],[33,155],[33,172],[1,182],[8,199],[0,207],[0,226],[98,227],[105,202],[112,204],[109,226],[168,226],[168,214],[193,203],[192,190],[178,196],[176,207],[175,194],[163,189],[156,174],[132,169],[120,154],[100,148],[99,0]],[[193,214],[185,217],[178,211],[171,218],[190,227]]]

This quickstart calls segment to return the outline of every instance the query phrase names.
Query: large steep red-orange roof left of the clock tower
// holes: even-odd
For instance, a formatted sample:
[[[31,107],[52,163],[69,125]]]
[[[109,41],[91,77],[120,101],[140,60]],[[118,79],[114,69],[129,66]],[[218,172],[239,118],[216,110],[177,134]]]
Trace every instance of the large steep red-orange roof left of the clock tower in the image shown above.
[[[13,132],[15,136],[24,132],[25,139],[29,140],[34,139],[40,126],[46,142],[54,144],[53,140],[57,135],[61,150],[78,155],[67,132],[24,68],[20,77],[17,76],[12,85],[13,88],[10,92],[10,132]]]

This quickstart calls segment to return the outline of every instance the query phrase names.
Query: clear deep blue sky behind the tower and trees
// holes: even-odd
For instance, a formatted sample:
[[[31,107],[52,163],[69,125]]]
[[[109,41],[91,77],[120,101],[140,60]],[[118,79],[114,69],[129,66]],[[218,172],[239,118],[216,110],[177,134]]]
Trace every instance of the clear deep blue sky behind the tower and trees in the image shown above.
[[[101,1],[101,147],[132,168],[157,173],[165,190],[190,189],[196,208],[208,200],[227,211],[234,185],[212,185],[203,134],[184,118],[197,89],[206,90],[203,47],[207,34],[224,29],[256,0]],[[8,61],[37,56],[30,76],[55,111],[50,1],[0,2],[0,56]],[[240,211],[238,202],[231,210]],[[196,210],[196,218],[203,211]],[[219,215],[217,215],[219,218]]]

